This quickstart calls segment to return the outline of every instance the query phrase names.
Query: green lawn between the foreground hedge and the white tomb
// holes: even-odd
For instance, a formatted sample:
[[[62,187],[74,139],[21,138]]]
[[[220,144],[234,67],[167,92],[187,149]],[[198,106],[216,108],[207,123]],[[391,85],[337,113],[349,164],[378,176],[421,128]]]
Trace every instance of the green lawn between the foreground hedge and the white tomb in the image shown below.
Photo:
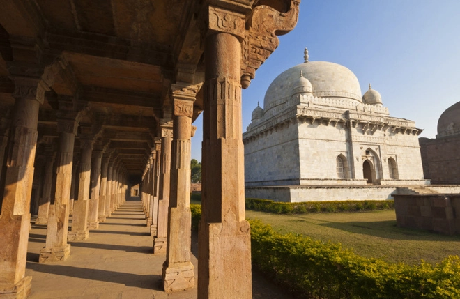
[[[314,240],[342,243],[355,253],[410,265],[420,260],[438,263],[448,255],[460,254],[460,236],[443,236],[396,226],[394,210],[365,213],[309,213],[275,215],[246,210],[282,233],[302,233]]]

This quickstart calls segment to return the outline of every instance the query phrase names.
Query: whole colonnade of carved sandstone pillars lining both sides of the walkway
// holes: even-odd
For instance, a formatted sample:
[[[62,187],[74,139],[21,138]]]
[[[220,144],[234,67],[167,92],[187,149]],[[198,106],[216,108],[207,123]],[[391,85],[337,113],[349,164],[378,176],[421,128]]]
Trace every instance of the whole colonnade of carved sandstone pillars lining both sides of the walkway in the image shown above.
[[[245,220],[244,204],[241,89],[249,86],[256,69],[277,47],[275,33],[287,33],[296,25],[300,1],[288,1],[290,6],[284,2],[278,3],[277,8],[283,10],[280,13],[266,5],[252,7],[253,1],[197,1],[197,20],[189,21],[190,26],[199,29],[184,34],[186,49],[178,59],[193,60],[187,43],[203,45],[205,59],[199,58],[202,47],[197,47],[199,55],[192,67],[187,61],[177,63],[176,75],[169,78],[169,94],[162,93],[164,98],[158,99],[161,105],[153,105],[157,109],[153,118],[157,123],[146,124],[146,128],[155,128],[157,132],[144,140],[148,148],[140,195],[146,226],[153,236],[152,252],[166,253],[162,279],[167,292],[194,286],[194,267],[190,263],[190,138],[194,132],[192,118],[202,109],[198,297],[252,298],[250,227]],[[198,37],[193,31],[199,31]],[[70,55],[70,59],[76,58]],[[204,63],[204,78],[194,78],[197,63]],[[9,129],[0,132],[0,154],[5,153],[5,160],[0,160],[0,239],[6,244],[0,250],[0,298],[26,298],[31,288],[31,277],[25,277],[25,263],[38,116],[45,91],[54,91],[54,98],[49,101],[53,112],[57,111],[59,135],[55,153],[45,160],[45,178],[41,179],[43,196],[38,223],[47,224],[47,237],[40,251],[40,263],[67,259],[68,242],[88,238],[89,230],[97,229],[98,223],[123,203],[128,189],[123,154],[111,145],[112,141],[101,145],[106,138],[103,128],[88,125],[98,123],[97,119],[88,121],[91,105],[82,107],[84,100],[77,95],[77,83],[65,84],[75,78],[74,74],[65,70],[65,62],[55,64],[56,74],[64,73],[54,86],[56,89],[53,76],[46,73],[51,69],[48,67],[41,73],[33,72],[33,78],[11,76],[15,109]],[[77,64],[74,61],[72,66]],[[194,102],[200,89],[203,102],[197,112]],[[86,88],[81,93],[83,96],[95,91],[98,90]],[[151,107],[151,101],[149,98],[142,105]],[[141,136],[144,128],[137,129]],[[123,132],[112,135],[127,138]],[[78,167],[74,167],[76,162]]]

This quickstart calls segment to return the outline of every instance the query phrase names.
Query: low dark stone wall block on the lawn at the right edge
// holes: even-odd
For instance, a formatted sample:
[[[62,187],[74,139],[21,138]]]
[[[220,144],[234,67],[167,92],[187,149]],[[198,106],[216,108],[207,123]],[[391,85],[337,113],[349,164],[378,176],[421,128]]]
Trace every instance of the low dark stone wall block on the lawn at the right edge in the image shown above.
[[[393,197],[398,227],[450,235],[460,233],[460,194],[394,194]]]

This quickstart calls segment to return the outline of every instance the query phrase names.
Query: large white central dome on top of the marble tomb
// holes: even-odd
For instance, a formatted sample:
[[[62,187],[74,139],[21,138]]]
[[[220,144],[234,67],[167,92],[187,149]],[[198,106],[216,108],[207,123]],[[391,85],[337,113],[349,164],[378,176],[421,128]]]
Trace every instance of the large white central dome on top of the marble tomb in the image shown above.
[[[362,102],[360,82],[348,68],[327,61],[310,61],[293,66],[282,72],[268,87],[263,100],[263,109],[275,107],[284,98],[293,94],[293,84],[303,77],[312,84],[313,95],[323,98],[347,98]]]

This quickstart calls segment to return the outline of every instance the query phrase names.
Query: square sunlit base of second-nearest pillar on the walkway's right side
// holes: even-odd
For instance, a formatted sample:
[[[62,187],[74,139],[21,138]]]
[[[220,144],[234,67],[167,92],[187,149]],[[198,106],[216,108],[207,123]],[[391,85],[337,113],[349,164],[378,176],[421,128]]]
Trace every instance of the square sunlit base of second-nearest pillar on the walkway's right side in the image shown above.
[[[185,291],[192,289],[195,285],[194,266],[192,263],[163,263],[163,287],[166,293],[174,291]]]

